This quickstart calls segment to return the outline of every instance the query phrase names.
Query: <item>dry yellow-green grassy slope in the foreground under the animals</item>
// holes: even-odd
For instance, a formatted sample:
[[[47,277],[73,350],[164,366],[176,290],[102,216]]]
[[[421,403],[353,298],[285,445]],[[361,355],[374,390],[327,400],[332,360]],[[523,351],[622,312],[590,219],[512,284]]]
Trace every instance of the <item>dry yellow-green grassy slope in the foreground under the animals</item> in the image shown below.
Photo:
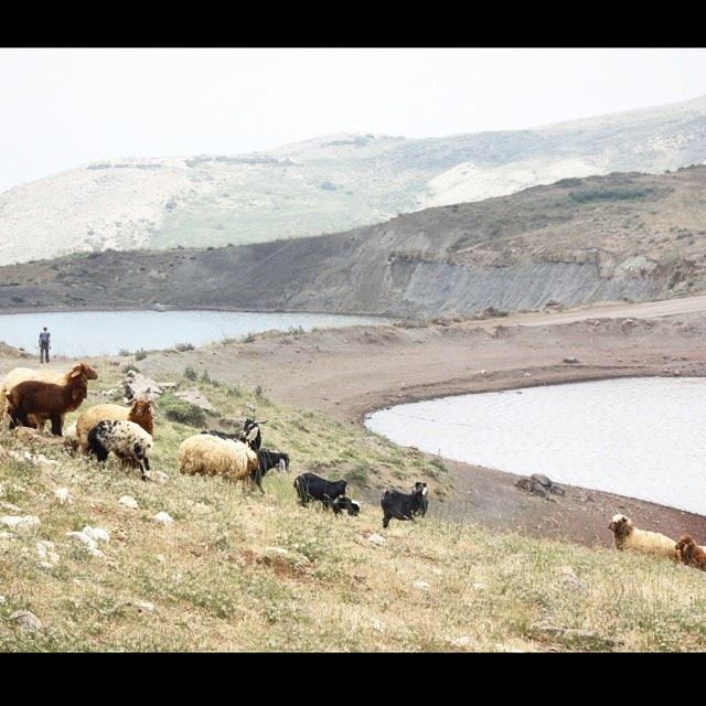
[[[96,391],[120,377],[108,364],[99,373]],[[702,573],[442,522],[434,515],[449,489],[432,460],[248,391],[180,383],[206,394],[218,410],[213,420],[254,407],[269,417],[266,441],[291,452],[290,473],[271,471],[265,496],[182,477],[175,451],[195,429],[167,419],[169,399],[158,410],[152,454],[164,483],[56,447],[33,449],[45,459],[33,460],[6,432],[0,515],[36,515],[41,524],[0,534],[0,651],[706,648]],[[431,516],[383,531],[376,503],[363,504],[359,517],[301,509],[292,478],[317,466],[372,486],[428,480]],[[57,502],[58,488],[68,489],[71,503]],[[119,504],[122,495],[138,509]],[[158,512],[173,523],[154,522]],[[104,556],[66,536],[86,525],[110,533],[98,543]],[[371,541],[376,533],[382,544]],[[43,629],[11,620],[19,610]]]

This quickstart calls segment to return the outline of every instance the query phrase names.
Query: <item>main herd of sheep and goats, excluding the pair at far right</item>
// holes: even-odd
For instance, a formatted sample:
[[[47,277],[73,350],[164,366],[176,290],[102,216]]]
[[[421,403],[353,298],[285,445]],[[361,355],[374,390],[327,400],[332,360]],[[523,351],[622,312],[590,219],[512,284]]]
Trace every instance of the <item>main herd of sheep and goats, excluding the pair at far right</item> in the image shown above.
[[[88,395],[88,381],[97,379],[97,372],[85,363],[76,363],[64,375],[47,371],[17,367],[4,377],[0,388],[0,417],[10,429],[30,427],[42,431],[51,421],[52,434],[63,436],[64,416],[78,409]],[[268,470],[289,469],[289,454],[261,447],[260,424],[246,419],[238,434],[216,430],[195,434],[179,447],[179,468],[182,473],[216,475],[243,481],[264,492],[261,480]],[[149,456],[154,438],[152,403],[137,397],[130,407],[95,405],[76,420],[75,447],[87,456],[105,461],[113,452],[128,467],[138,468],[142,480],[150,479]],[[346,481],[330,481],[313,473],[295,479],[295,489],[302,505],[320,501],[335,514],[346,511],[360,513],[360,504],[345,494]],[[385,491],[381,499],[383,526],[391,518],[414,520],[427,512],[427,484],[417,482],[411,493]]]

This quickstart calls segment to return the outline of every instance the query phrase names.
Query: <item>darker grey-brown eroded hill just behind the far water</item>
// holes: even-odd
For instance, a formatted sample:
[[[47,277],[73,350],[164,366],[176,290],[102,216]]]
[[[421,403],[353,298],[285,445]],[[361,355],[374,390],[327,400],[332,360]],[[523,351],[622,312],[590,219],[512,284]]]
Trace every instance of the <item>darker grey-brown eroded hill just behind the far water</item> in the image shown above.
[[[706,289],[706,167],[567,179],[345,233],[0,268],[0,309],[232,308],[400,317]]]

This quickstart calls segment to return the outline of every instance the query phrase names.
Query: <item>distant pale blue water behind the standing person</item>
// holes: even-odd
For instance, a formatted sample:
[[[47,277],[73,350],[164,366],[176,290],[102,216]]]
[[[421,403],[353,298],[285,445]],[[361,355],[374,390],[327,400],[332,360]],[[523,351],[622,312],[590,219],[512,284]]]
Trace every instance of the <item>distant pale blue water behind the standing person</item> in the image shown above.
[[[63,311],[0,315],[0,341],[39,356],[40,331],[52,334],[54,355],[115,355],[118,351],[202,345],[269,329],[374,325],[388,320],[325,313],[257,313],[249,311]]]

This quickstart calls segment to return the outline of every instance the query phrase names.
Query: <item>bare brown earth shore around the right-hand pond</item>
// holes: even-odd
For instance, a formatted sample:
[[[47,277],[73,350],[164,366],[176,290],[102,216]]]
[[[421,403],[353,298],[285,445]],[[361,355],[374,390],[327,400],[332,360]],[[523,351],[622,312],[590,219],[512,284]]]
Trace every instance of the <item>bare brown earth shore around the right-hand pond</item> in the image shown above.
[[[261,335],[252,343],[150,353],[139,367],[165,381],[189,365],[223,382],[259,385],[279,403],[320,409],[357,425],[376,409],[446,395],[611,377],[705,376],[706,317],[698,311],[667,315],[651,304],[660,313],[650,313],[650,304],[619,304],[617,314],[601,307],[561,312],[569,319],[561,323],[553,323],[558,313],[520,314]],[[639,319],[641,307],[648,317],[659,318]],[[625,309],[630,318],[620,318]],[[3,355],[0,372],[28,363],[33,359]],[[61,361],[54,364],[62,366]],[[567,486],[557,502],[548,502],[517,490],[512,473],[459,461],[446,464],[452,491],[443,503],[432,499],[432,509],[452,522],[608,546],[610,516],[623,512],[638,526],[674,538],[688,532],[706,543],[705,516],[574,486]],[[371,503],[379,501],[377,490],[364,495]]]

